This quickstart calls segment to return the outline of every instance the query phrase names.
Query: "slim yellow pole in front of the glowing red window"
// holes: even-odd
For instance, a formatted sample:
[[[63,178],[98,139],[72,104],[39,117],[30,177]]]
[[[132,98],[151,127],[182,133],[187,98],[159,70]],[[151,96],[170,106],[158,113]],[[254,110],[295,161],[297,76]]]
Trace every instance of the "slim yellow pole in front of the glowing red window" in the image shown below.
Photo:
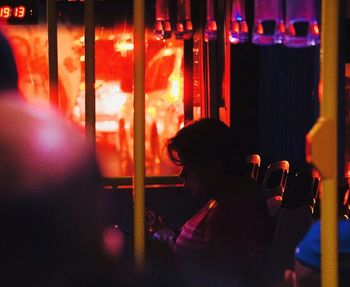
[[[134,256],[145,263],[145,23],[144,0],[134,0]]]

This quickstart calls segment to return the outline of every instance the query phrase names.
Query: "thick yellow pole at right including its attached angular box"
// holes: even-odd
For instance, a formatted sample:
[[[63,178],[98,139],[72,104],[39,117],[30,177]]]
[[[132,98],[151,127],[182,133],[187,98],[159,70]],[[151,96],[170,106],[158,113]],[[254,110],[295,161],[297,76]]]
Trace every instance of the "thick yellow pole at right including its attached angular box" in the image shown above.
[[[311,161],[322,175],[321,271],[322,286],[338,286],[337,225],[337,95],[339,1],[322,1],[321,115],[310,131]]]

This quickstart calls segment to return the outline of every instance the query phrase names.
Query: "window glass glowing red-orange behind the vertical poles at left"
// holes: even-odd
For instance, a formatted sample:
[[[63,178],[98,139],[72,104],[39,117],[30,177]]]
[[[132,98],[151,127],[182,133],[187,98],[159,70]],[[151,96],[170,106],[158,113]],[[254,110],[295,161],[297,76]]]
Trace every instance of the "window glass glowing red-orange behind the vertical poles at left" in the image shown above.
[[[84,10],[82,3],[71,4],[58,4],[59,108],[84,133]],[[96,150],[105,177],[133,172],[132,9],[120,5],[96,3]],[[45,8],[40,11],[45,19]],[[7,25],[4,31],[14,48],[23,96],[48,102],[47,23]],[[163,147],[183,125],[183,42],[157,40],[148,28],[145,38],[146,173],[175,175],[178,168]]]

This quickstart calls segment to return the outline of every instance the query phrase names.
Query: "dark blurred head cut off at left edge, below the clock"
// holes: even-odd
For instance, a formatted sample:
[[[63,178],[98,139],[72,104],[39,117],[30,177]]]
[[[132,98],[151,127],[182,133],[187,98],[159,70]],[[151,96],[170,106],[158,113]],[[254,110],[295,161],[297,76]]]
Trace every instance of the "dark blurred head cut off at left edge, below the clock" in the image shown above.
[[[11,46],[0,32],[0,91],[17,91],[18,72]]]

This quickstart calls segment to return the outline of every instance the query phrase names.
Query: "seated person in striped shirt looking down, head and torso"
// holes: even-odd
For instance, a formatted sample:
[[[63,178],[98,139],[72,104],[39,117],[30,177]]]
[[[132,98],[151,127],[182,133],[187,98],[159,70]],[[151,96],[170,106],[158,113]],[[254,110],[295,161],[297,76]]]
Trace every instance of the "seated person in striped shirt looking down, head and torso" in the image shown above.
[[[226,124],[204,118],[179,130],[167,150],[193,196],[206,201],[173,245],[180,268],[193,286],[258,285],[269,216],[240,142]]]

